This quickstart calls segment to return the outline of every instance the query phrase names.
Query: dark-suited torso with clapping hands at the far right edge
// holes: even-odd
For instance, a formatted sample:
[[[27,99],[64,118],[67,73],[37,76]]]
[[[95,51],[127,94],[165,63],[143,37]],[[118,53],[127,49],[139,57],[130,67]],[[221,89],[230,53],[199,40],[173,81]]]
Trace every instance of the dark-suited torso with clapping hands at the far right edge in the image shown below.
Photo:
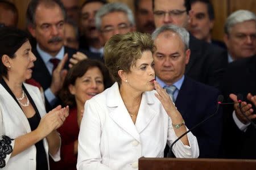
[[[243,96],[242,112],[256,122],[256,56],[240,59],[229,64],[222,81],[226,99],[237,102]],[[256,159],[256,129],[242,115],[238,104],[225,106],[224,157],[233,159]]]

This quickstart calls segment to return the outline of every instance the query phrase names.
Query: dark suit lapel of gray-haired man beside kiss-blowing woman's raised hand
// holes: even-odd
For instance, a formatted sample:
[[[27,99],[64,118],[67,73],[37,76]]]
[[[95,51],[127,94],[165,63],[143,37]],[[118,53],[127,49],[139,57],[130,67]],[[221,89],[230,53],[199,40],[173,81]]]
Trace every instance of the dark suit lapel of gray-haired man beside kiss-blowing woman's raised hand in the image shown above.
[[[178,111],[181,113],[184,120],[188,116],[187,111],[189,109],[189,105],[193,102],[192,101],[192,96],[193,96],[192,89],[193,88],[190,86],[189,79],[185,76],[184,82],[181,85],[179,94],[177,95],[177,99],[175,101],[175,105],[176,105]]]

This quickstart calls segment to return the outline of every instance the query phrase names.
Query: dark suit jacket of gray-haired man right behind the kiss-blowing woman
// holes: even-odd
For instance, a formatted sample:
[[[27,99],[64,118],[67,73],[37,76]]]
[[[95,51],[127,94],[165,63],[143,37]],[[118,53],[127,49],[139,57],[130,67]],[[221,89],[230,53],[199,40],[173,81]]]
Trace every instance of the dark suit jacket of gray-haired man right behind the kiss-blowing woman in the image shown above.
[[[175,105],[188,129],[216,112],[219,94],[216,88],[185,76]],[[221,142],[221,122],[222,109],[219,109],[215,116],[192,130],[199,144],[199,158],[217,158]]]

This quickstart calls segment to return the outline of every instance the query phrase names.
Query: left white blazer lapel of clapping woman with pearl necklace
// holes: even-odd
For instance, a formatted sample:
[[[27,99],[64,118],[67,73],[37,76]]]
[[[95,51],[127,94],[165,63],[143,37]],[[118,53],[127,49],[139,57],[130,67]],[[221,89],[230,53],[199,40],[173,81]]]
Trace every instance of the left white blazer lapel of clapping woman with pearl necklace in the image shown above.
[[[31,129],[27,117],[25,116],[19,105],[16,103],[16,101],[13,99],[13,97],[9,94],[9,92],[5,90],[2,84],[0,84],[0,96],[5,97],[5,99],[3,99],[3,105],[5,105],[6,108],[8,108],[8,113],[15,114],[15,117],[22,121],[24,128],[26,129],[27,133],[29,133]]]

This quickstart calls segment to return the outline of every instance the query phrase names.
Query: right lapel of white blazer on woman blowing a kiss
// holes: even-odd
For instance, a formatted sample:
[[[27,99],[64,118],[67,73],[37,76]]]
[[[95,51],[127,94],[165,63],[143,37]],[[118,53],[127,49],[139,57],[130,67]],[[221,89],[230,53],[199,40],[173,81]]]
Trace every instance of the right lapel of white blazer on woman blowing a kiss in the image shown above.
[[[139,112],[135,123],[138,133],[141,133],[156,115],[154,109],[154,97],[155,96],[152,95],[150,96],[150,92],[144,92],[142,95],[141,105],[139,106]]]

